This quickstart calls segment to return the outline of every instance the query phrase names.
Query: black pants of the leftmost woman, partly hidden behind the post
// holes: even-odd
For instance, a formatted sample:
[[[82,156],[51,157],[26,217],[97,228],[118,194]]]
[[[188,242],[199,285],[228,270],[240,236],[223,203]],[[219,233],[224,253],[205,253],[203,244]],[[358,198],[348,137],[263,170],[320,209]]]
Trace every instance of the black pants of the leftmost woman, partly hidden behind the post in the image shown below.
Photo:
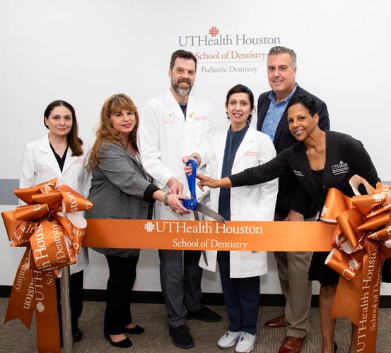
[[[75,332],[78,325],[78,318],[83,311],[83,274],[81,270],[69,277],[69,296],[71,300],[72,331]],[[57,289],[57,311],[59,313],[60,336],[62,337],[62,314],[61,314],[61,286],[60,279],[56,277]]]

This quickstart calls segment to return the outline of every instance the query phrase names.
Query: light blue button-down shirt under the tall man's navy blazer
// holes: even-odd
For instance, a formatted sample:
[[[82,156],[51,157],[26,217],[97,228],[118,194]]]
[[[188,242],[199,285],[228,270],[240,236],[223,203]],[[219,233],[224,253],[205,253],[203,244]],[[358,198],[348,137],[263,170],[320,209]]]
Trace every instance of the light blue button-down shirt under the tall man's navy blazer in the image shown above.
[[[269,100],[271,100],[271,102],[269,104],[269,108],[267,108],[266,115],[264,116],[261,131],[269,135],[270,138],[272,138],[272,141],[274,141],[274,136],[276,135],[276,129],[281,120],[281,116],[284,114],[286,106],[293,96],[293,93],[296,91],[297,86],[298,85],[296,83],[291,94],[288,95],[285,100],[281,100],[281,102],[278,103],[276,103],[276,93],[272,91],[269,94]]]

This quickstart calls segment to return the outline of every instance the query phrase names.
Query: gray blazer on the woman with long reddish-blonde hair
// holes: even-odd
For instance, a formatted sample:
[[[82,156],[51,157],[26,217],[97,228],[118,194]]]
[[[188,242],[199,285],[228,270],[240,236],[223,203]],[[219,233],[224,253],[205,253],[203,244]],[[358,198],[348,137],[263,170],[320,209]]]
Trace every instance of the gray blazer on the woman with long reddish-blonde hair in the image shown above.
[[[158,190],[148,181],[148,176],[130,150],[114,143],[102,143],[100,162],[93,169],[93,179],[88,199],[93,210],[86,218],[146,219],[151,215],[152,194]],[[110,234],[107,234],[110,236]],[[132,234],[129,234],[132,237]],[[106,255],[124,258],[137,256],[140,249],[93,248]]]

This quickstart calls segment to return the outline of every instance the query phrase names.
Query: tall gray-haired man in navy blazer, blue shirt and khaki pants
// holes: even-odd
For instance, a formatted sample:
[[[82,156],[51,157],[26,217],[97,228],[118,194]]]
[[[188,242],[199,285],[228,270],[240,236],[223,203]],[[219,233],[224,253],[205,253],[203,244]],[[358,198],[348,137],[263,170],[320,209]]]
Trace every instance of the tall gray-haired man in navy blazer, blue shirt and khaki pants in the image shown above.
[[[315,99],[319,126],[329,130],[329,114],[325,102],[296,83],[296,53],[286,47],[273,47],[267,56],[267,77],[271,91],[258,99],[257,129],[272,138],[277,154],[296,143],[288,129],[286,106],[291,97],[308,95]],[[293,174],[279,179],[275,220],[314,220],[315,210]],[[278,237],[278,234],[276,234]],[[292,234],[294,241],[294,234]],[[267,328],[286,328],[286,339],[279,353],[300,352],[310,329],[312,286],[308,281],[310,252],[274,252],[281,289],[285,297],[285,313],[265,323]]]

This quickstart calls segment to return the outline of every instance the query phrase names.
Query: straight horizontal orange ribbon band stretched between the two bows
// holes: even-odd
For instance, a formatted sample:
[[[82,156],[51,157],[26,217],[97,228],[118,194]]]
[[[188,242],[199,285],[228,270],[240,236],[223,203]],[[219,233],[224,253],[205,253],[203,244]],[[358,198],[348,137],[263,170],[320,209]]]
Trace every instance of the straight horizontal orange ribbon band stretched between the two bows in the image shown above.
[[[83,246],[219,251],[330,251],[325,222],[88,220]],[[294,234],[294,241],[292,239]]]

